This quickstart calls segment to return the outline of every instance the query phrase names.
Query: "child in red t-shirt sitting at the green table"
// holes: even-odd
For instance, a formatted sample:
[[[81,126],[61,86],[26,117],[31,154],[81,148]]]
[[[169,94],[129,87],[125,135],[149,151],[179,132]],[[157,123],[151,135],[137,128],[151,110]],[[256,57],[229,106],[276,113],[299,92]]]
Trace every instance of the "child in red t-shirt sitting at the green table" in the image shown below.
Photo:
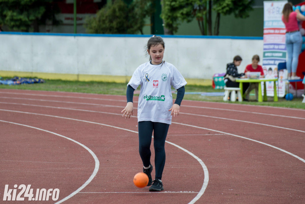
[[[260,61],[260,57],[258,55],[254,55],[252,57],[252,64],[248,64],[245,69],[245,73],[247,72],[260,72],[260,78],[264,78],[264,70],[263,67],[258,63]],[[248,89],[245,92],[246,100],[249,100],[250,92],[255,89],[255,97],[258,100],[258,82],[251,82],[249,84]]]

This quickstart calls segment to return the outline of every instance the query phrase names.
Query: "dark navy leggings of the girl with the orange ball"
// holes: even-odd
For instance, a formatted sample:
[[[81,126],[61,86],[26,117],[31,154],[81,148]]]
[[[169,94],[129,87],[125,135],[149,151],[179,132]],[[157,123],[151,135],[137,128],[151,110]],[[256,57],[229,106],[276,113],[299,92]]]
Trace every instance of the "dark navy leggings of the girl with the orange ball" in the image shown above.
[[[165,139],[169,124],[162,122],[140,121],[138,122],[139,130],[139,153],[143,162],[143,166],[150,164],[150,144],[152,142],[153,131],[153,146],[155,148],[155,170],[156,179],[162,178],[162,173],[165,165]]]

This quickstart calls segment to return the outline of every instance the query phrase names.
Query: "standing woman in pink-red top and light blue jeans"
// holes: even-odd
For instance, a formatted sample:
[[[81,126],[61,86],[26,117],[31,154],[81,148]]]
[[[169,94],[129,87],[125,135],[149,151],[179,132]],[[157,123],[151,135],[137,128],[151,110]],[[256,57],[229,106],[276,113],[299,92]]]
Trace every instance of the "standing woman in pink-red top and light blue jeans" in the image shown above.
[[[298,9],[293,11],[292,4],[286,3],[283,8],[282,21],[286,27],[286,49],[288,60],[286,67],[288,71],[288,79],[300,79],[296,76],[296,68],[299,62],[299,54],[302,48],[302,35],[299,30],[298,20],[305,20]]]

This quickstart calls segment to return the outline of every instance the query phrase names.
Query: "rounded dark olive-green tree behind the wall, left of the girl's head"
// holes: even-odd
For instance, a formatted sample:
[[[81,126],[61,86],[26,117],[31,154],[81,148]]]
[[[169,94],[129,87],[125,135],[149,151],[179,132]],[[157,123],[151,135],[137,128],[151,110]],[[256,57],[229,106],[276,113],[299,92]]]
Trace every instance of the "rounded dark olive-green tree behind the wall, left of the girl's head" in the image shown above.
[[[115,0],[100,9],[95,17],[86,19],[88,33],[104,34],[143,34],[145,18],[153,13],[152,0],[134,0],[127,5],[122,0]]]

